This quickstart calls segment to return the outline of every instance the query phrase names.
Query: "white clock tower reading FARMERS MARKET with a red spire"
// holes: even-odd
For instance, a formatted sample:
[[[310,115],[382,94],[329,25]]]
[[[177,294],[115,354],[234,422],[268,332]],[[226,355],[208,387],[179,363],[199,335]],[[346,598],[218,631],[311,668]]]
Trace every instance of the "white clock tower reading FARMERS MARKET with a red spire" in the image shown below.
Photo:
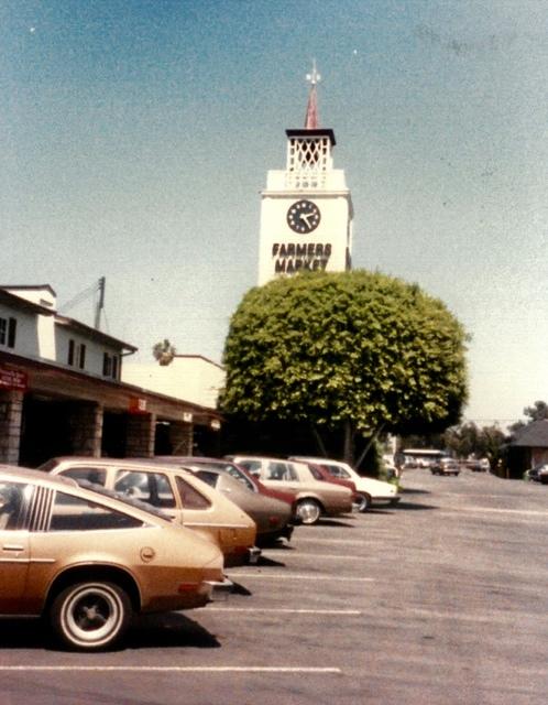
[[[313,67],[303,129],[286,130],[284,171],[271,170],[261,193],[259,284],[299,271],[351,267],[352,199],[344,172],[333,169],[335,133],[318,124]]]

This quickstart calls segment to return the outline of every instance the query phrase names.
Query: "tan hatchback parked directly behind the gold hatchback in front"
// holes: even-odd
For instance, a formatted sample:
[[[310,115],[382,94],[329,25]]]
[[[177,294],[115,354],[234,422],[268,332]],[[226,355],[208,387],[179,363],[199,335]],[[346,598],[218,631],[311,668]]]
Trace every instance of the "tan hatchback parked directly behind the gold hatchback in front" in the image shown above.
[[[190,470],[134,458],[66,456],[41,466],[53,475],[87,480],[162,509],[188,529],[209,536],[229,566],[256,562],[256,527],[249,514]]]

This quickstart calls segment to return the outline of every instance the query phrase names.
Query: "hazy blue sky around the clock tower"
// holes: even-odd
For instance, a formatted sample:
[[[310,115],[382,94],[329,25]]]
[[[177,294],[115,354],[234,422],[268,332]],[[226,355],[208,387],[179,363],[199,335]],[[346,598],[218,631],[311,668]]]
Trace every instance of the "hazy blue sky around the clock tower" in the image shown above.
[[[354,267],[472,336],[465,416],[548,401],[546,0],[0,0],[2,283],[221,358],[313,57]],[[92,300],[66,312],[92,322]]]

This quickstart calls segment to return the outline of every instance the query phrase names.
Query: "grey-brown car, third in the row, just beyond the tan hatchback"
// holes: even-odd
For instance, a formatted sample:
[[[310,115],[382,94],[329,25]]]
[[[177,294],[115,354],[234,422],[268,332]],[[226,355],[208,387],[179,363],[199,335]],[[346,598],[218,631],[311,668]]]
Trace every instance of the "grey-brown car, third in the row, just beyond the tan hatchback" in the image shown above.
[[[156,458],[152,458],[155,460]],[[160,463],[167,464],[167,458],[157,458]],[[234,505],[249,514],[256,524],[256,543],[265,545],[277,539],[292,538],[294,530],[292,502],[275,499],[261,492],[243,469],[238,468],[237,475],[221,468],[212,462],[199,462],[187,458],[185,462],[172,459],[174,467],[186,468],[195,473],[196,477],[226,495]],[[224,462],[224,466],[232,465]],[[289,496],[291,499],[291,496]]]

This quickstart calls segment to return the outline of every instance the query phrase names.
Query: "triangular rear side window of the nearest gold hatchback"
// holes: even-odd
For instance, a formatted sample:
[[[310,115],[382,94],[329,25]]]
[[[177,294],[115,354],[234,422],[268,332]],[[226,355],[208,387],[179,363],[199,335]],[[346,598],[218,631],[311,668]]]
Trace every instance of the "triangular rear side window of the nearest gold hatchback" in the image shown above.
[[[90,502],[75,495],[55,492],[50,531],[102,531],[142,527],[140,519]]]

